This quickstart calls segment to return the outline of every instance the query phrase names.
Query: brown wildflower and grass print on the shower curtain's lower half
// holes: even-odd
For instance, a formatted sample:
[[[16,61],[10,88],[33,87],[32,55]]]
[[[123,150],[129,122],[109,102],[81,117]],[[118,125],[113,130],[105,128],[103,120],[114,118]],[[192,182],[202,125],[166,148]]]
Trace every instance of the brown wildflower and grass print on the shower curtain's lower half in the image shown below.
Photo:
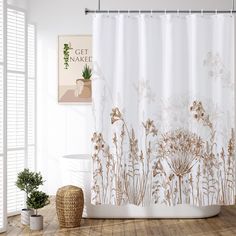
[[[234,204],[234,131],[219,149],[202,103],[194,101],[190,112],[209,131],[208,140],[185,129],[160,133],[151,119],[142,123],[144,139],[138,139],[120,109],[113,108],[111,124],[118,131],[110,146],[103,134],[92,137],[92,203]]]

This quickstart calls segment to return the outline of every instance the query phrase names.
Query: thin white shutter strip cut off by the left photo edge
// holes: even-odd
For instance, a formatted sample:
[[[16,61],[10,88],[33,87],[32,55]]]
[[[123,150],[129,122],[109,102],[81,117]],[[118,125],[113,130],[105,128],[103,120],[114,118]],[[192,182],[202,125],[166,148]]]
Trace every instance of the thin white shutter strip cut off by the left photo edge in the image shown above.
[[[6,101],[5,96],[6,93],[4,91],[5,79],[4,74],[6,71],[4,57],[5,51],[3,48],[4,44],[4,25],[5,25],[5,12],[4,8],[6,1],[0,0],[0,233],[6,230],[6,141],[4,136],[6,135],[5,129],[5,109],[6,109]]]

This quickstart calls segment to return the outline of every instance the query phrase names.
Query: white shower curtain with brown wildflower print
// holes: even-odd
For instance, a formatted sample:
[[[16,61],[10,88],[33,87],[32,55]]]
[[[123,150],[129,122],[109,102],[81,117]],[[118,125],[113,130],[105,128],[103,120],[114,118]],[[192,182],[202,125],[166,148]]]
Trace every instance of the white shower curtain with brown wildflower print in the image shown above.
[[[235,202],[234,16],[96,14],[92,203]]]

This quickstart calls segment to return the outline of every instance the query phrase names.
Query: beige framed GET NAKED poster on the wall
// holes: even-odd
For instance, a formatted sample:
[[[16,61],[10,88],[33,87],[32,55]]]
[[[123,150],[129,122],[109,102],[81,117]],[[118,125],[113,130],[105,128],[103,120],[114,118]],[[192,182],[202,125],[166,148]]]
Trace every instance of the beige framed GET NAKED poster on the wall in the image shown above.
[[[92,101],[92,36],[58,37],[58,102]]]

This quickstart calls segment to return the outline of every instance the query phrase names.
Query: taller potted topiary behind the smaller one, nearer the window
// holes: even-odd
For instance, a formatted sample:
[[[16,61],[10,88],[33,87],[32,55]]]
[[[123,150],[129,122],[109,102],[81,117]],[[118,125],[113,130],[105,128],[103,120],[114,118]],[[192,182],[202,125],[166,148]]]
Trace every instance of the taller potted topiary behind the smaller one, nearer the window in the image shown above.
[[[30,215],[34,212],[27,204],[29,194],[38,189],[40,185],[43,184],[43,178],[40,173],[31,172],[29,169],[24,169],[24,171],[18,173],[16,186],[26,193],[26,208],[21,211],[21,223],[24,225],[29,225]]]

